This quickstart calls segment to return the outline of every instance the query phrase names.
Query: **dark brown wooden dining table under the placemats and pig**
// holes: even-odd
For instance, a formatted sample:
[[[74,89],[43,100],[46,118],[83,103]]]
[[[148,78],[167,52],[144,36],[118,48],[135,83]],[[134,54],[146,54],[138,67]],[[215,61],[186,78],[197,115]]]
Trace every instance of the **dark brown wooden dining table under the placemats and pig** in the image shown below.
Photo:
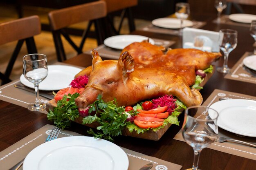
[[[213,24],[211,22],[212,18],[202,18],[202,20],[206,19],[209,22],[202,29],[219,31],[222,28],[229,28],[238,31],[238,46],[231,52],[228,62],[230,68],[246,51],[253,51],[252,44],[254,40],[249,35],[248,27]],[[176,44],[171,46],[172,48],[180,48],[182,46],[181,38],[178,36],[143,31],[135,31],[134,34],[177,41]],[[82,61],[83,59],[72,58],[65,62],[78,66],[87,66],[84,64],[86,62]],[[220,60],[216,64],[222,65],[222,62]],[[256,96],[255,84],[224,79],[223,74],[216,72],[204,86],[204,89],[200,91],[204,100],[216,88]],[[181,122],[183,121],[183,114],[179,119]],[[52,122],[47,120],[45,114],[32,113],[26,108],[0,101],[0,150],[11,146],[45,124],[52,124]],[[191,168],[193,163],[193,149],[185,142],[173,139],[180,128],[180,126],[171,126],[159,141],[119,136],[114,138],[115,144],[165,161],[180,164],[183,166],[182,169]],[[73,123],[72,127],[68,130],[81,133],[82,135],[88,135],[86,133],[87,128],[80,124]],[[199,168],[202,170],[253,170],[256,168],[256,161],[205,148],[202,150],[200,156]]]

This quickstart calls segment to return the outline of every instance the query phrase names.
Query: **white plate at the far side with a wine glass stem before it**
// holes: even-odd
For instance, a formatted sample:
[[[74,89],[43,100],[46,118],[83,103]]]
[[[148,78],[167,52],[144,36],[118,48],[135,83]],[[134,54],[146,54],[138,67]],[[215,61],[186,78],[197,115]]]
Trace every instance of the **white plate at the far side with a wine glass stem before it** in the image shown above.
[[[180,20],[177,18],[158,18],[152,21],[155,26],[168,28],[168,29],[179,29]],[[190,20],[183,20],[182,27],[193,26],[193,22]]]

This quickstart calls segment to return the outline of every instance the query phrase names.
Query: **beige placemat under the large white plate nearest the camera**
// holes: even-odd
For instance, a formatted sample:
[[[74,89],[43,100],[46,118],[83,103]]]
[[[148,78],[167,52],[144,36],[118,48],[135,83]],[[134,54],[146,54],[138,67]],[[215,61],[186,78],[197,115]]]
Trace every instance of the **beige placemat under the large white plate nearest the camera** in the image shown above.
[[[43,144],[50,131],[52,130],[52,125],[45,125],[36,132],[33,132],[24,139],[18,141],[16,144],[8,147],[7,149],[0,152],[0,169],[8,170],[20,160],[22,160],[26,155],[39,146]],[[76,132],[71,132],[64,130],[60,132],[60,137],[69,137],[69,136],[82,136]],[[144,166],[147,163],[153,163],[153,168],[151,170],[180,170],[182,166],[175,163],[167,162],[155,157],[150,157],[132,150],[122,148],[129,159],[129,168],[128,170],[138,170],[140,167]],[[22,170],[22,167],[19,169]]]

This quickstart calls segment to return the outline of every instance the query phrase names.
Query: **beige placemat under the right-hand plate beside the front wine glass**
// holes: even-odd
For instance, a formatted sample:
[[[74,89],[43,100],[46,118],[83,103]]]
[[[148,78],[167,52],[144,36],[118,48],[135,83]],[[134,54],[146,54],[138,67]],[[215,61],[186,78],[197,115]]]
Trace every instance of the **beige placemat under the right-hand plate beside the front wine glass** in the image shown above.
[[[243,95],[240,93],[232,93],[228,91],[222,91],[222,90],[214,90],[213,93],[207,98],[207,100],[202,104],[204,106],[211,106],[211,104],[218,102],[220,98],[226,97],[227,99],[250,99],[250,100],[256,100],[256,97],[254,96],[249,96],[249,95]],[[239,117],[238,117],[239,119]],[[241,141],[246,141],[250,142],[253,144],[256,144],[256,137],[244,137],[242,135],[236,135],[234,133],[228,132],[226,130],[223,130],[219,128],[219,133],[218,135],[220,137],[231,137],[234,139],[238,139]],[[177,133],[177,135],[173,138],[179,141],[184,141],[182,137],[182,132]],[[245,146],[237,143],[231,143],[231,142],[224,142],[224,143],[218,143],[214,142],[207,148],[211,148],[214,150],[218,150],[221,152],[226,152],[232,155],[237,155],[240,157],[245,157],[248,159],[253,159],[256,160],[256,148],[250,147],[250,146]]]

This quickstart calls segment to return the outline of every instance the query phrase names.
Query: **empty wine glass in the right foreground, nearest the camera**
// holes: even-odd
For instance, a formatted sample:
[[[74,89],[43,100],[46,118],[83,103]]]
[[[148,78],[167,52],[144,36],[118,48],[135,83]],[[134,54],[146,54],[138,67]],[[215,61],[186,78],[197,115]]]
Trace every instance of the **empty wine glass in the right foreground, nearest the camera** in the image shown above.
[[[192,169],[187,170],[198,170],[200,152],[213,143],[218,134],[217,118],[218,112],[206,106],[191,106],[185,110],[182,135],[194,150]]]

